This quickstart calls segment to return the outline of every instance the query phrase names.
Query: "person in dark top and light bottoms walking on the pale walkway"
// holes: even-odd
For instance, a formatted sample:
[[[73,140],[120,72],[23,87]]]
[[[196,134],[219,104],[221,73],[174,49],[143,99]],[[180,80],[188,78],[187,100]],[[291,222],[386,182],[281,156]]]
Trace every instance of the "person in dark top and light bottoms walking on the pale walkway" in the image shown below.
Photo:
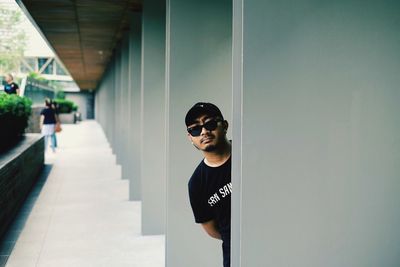
[[[52,108],[51,100],[45,100],[46,107],[40,112],[40,129],[44,135],[45,151],[48,146],[48,140],[51,140],[51,149],[53,152],[56,150],[54,139],[52,138],[55,132],[57,117],[54,109]]]

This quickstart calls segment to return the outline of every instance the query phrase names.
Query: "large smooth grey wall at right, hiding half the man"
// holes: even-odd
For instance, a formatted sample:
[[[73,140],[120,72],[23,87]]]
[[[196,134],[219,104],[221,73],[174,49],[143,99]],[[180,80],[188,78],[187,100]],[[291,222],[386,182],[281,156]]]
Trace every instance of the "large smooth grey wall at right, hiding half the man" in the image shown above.
[[[399,266],[399,8],[235,1],[233,266]]]

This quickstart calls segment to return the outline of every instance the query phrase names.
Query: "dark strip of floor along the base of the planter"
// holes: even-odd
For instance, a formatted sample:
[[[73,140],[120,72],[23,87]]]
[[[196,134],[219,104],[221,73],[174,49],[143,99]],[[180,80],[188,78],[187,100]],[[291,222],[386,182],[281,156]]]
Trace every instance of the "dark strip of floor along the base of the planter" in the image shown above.
[[[18,240],[18,237],[24,229],[25,223],[35,205],[36,200],[40,196],[43,186],[45,185],[47,178],[50,174],[53,165],[45,164],[43,170],[40,173],[36,184],[33,186],[31,192],[25,199],[20,210],[14,218],[14,221],[8,227],[7,232],[4,234],[2,240],[0,240],[0,267],[4,267],[7,263],[8,257]]]

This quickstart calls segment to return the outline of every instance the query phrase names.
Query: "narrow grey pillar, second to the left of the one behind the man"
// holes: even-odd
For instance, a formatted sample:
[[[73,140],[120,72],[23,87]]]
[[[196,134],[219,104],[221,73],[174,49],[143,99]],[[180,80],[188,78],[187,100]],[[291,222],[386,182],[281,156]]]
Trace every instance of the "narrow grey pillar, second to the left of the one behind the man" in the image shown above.
[[[129,182],[129,199],[141,199],[141,150],[142,150],[142,89],[141,89],[141,13],[134,12],[130,27],[130,72],[131,80],[131,136],[129,147],[131,153],[132,174]]]

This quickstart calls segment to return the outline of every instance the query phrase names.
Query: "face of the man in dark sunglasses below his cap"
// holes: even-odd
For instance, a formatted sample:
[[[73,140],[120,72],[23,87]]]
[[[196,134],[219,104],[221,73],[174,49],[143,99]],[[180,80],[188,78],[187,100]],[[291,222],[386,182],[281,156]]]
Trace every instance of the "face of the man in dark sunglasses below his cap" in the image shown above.
[[[225,125],[219,118],[202,115],[188,126],[188,129],[192,130],[192,133],[188,133],[189,140],[201,151],[214,151],[225,139]]]

